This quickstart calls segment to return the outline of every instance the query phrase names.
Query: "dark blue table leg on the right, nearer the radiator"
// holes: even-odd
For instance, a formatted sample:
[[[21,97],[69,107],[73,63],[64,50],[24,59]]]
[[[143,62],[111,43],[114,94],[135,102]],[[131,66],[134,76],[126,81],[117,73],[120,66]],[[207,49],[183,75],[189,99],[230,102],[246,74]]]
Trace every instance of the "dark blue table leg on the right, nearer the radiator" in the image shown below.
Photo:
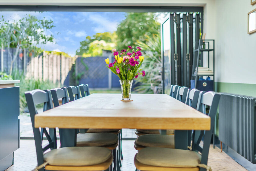
[[[177,149],[188,149],[188,131],[175,130],[174,143]]]

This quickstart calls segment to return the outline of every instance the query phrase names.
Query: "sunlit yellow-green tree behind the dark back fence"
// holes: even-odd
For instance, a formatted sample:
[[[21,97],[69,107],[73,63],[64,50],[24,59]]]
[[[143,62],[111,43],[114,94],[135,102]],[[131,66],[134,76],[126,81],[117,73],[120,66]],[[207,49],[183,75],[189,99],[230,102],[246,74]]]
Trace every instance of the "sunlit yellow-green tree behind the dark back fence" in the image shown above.
[[[93,36],[87,36],[80,42],[80,48],[76,51],[77,55],[83,57],[101,56],[102,50],[112,50],[116,46],[115,32],[96,33]]]

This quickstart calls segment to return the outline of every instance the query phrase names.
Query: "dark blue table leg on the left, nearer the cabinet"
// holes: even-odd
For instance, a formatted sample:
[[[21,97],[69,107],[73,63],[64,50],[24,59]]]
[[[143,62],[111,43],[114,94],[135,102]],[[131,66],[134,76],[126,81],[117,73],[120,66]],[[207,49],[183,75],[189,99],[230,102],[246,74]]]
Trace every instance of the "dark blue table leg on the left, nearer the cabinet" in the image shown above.
[[[61,129],[60,147],[75,147],[77,145],[77,129]]]

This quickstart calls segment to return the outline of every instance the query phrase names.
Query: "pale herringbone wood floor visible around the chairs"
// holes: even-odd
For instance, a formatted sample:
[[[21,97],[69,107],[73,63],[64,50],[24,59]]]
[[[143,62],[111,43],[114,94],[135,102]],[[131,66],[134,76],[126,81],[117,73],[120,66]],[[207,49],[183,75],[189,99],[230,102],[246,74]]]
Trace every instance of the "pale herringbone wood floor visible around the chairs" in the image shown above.
[[[136,150],[133,147],[134,140],[122,141],[123,161],[122,171],[134,171],[135,166],[133,163]],[[43,143],[46,143],[44,140]],[[58,142],[59,144],[59,142]],[[20,148],[14,152],[14,165],[9,167],[7,171],[14,170],[32,170],[37,165],[36,149],[34,140],[20,140]],[[220,153],[219,148],[212,148],[210,146],[208,165],[212,170],[246,170],[226,153]]]

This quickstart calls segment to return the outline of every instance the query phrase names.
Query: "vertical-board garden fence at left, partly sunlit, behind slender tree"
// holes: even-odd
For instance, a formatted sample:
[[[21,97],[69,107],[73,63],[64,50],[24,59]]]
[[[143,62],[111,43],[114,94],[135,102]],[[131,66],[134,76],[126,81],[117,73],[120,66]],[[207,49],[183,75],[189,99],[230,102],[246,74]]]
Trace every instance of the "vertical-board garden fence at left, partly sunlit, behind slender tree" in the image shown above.
[[[15,49],[11,49],[11,55],[14,53]],[[13,71],[23,72],[27,78],[50,80],[62,85],[75,60],[75,58],[53,53],[42,52],[35,57],[29,57],[26,50],[22,50],[20,53],[23,53],[23,57],[17,57],[13,64]],[[9,73],[11,63],[7,50],[1,53],[0,63],[0,70]]]

